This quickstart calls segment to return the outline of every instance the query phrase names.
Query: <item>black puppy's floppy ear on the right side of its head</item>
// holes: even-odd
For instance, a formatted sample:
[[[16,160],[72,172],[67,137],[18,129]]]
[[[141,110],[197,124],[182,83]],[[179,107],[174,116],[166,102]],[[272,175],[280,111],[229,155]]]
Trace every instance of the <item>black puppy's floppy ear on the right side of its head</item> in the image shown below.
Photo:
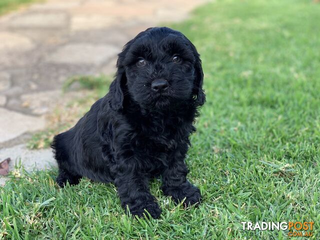
[[[199,55],[196,55],[196,60],[194,63],[194,86],[193,86],[193,92],[194,95],[196,96],[195,101],[196,104],[199,106],[202,106],[205,102],[205,94],[202,89],[203,85],[203,71],[202,71],[202,66],[201,66],[201,59]]]

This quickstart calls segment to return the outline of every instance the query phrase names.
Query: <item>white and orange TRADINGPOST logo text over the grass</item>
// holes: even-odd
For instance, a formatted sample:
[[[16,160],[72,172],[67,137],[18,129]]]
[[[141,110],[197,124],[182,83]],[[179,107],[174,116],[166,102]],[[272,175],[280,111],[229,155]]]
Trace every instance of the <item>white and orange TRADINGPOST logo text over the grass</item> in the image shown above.
[[[288,230],[288,236],[312,236],[313,235],[313,221],[241,221],[242,230]]]

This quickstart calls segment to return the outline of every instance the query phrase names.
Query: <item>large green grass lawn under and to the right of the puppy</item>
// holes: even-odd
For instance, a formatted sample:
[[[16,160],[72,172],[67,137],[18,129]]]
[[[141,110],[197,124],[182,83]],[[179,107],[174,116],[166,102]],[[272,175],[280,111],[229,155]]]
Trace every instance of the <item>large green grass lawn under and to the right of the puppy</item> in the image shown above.
[[[126,216],[112,184],[59,189],[56,169],[0,189],[4,239],[287,239],[241,221],[314,221],[320,237],[320,5],[227,0],[173,25],[197,46],[207,102],[186,162],[200,187],[184,209],[151,182],[158,220]],[[293,238],[296,239],[296,238]]]

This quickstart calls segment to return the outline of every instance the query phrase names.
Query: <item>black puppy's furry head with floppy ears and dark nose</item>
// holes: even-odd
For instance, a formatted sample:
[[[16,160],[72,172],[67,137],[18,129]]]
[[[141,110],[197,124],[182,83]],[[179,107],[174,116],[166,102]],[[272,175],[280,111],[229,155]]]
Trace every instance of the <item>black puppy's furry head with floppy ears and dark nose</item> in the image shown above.
[[[144,108],[163,108],[192,99],[205,101],[201,60],[194,45],[180,32],[153,27],[124,46],[110,85],[110,106],[123,108],[130,97]]]

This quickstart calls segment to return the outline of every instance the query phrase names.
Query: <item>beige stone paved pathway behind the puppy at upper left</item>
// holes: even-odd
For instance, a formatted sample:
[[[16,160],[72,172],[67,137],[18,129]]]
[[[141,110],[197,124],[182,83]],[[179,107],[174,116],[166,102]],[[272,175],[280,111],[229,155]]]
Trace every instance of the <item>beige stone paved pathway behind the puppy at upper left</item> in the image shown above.
[[[16,144],[45,126],[43,114],[61,100],[63,81],[112,74],[116,54],[138,32],[183,20],[206,1],[47,0],[1,16],[0,159],[21,157],[28,166],[44,159],[33,151],[26,157]]]

